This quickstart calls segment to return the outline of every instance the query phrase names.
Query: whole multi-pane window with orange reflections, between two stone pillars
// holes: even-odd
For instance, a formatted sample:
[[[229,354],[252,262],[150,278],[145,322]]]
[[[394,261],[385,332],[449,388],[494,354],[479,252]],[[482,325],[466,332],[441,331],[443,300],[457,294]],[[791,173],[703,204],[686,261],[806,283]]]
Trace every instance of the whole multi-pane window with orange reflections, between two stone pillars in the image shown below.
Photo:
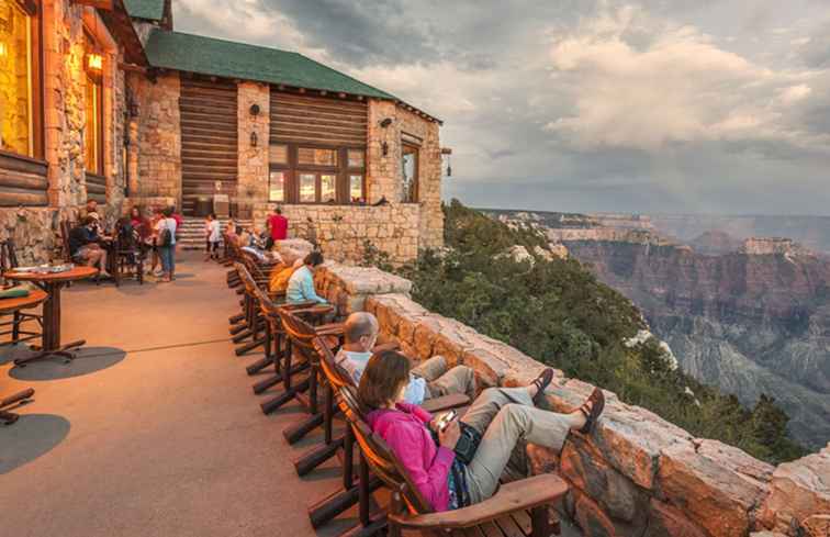
[[[269,201],[279,203],[366,202],[363,149],[272,144]]]

